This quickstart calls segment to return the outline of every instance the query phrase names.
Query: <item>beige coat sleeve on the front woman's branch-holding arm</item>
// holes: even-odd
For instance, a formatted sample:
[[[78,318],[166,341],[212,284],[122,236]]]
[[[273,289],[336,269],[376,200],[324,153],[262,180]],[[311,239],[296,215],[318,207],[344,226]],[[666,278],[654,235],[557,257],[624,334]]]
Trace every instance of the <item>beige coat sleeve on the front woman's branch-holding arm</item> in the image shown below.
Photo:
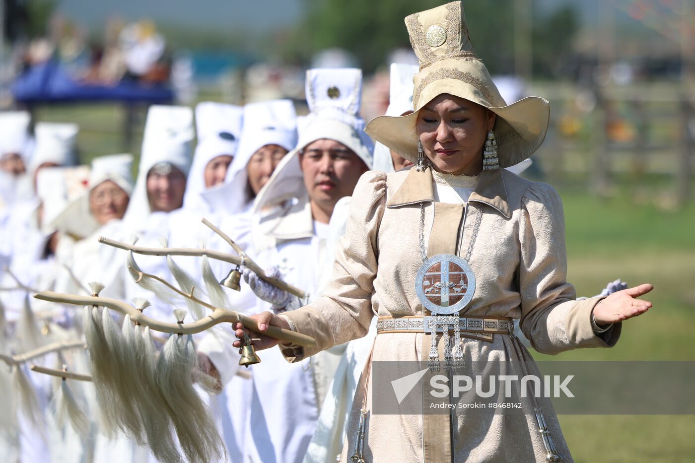
[[[354,188],[345,236],[338,241],[332,280],[324,295],[286,316],[294,329],[316,339],[315,348],[282,346],[288,362],[365,336],[373,317],[377,234],[386,208],[386,174],[370,171]]]

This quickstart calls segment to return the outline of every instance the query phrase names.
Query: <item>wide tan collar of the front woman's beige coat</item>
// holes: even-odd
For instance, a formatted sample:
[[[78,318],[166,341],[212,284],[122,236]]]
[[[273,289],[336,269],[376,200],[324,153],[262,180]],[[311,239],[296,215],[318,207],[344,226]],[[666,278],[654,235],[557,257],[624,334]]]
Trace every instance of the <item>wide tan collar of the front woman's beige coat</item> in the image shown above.
[[[512,218],[507,202],[507,188],[502,169],[483,170],[480,172],[475,190],[471,193],[468,201],[488,204],[501,213],[502,216],[505,216],[505,218]],[[411,168],[401,186],[391,199],[386,202],[386,206],[393,208],[420,202],[434,202],[432,171],[430,168],[423,170],[423,172],[418,172],[416,168]]]

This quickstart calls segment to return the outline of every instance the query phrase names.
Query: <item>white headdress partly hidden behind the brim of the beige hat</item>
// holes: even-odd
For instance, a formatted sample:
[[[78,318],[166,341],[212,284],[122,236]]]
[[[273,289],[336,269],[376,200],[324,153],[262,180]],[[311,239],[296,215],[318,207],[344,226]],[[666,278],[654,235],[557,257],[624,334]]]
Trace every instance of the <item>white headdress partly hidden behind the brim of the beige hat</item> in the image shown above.
[[[389,107],[386,108],[386,115],[400,116],[413,111],[413,76],[419,70],[418,65],[391,63]],[[374,170],[394,170],[391,150],[379,142],[374,146]]]

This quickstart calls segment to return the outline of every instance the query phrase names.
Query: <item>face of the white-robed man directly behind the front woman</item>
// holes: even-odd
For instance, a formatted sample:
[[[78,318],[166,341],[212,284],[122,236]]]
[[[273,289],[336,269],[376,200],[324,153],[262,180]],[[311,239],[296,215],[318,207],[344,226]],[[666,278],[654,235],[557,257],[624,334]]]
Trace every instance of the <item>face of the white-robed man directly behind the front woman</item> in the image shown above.
[[[306,145],[300,163],[309,199],[330,211],[341,197],[352,195],[359,177],[368,170],[352,149],[327,138]]]

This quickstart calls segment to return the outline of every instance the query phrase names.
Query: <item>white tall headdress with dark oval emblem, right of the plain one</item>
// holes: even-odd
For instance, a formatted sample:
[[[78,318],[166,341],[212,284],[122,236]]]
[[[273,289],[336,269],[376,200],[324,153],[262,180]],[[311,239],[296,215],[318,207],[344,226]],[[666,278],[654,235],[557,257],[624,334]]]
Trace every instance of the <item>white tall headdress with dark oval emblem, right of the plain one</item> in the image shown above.
[[[243,108],[233,104],[204,101],[195,107],[198,145],[190,166],[183,207],[199,209],[205,187],[204,171],[210,161],[227,154],[236,156],[243,124]]]

